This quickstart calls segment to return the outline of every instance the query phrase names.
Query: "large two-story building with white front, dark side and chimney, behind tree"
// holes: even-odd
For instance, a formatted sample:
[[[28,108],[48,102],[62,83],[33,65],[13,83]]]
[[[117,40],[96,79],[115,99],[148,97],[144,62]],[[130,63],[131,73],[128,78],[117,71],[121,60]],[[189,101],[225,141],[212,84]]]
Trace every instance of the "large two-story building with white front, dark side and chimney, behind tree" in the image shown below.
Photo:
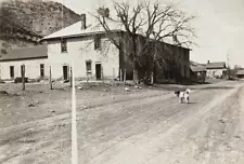
[[[118,26],[113,26],[111,31],[115,37],[119,36],[121,44],[127,44],[125,30]],[[120,76],[120,72],[124,73],[125,71],[127,79],[132,78],[133,70],[128,56],[123,54],[110,41],[103,27],[87,27],[86,14],[81,14],[80,22],[44,37],[42,41],[48,46],[48,60],[52,67],[53,79],[67,80],[70,69],[74,71],[75,78],[80,80],[87,78],[95,80],[101,80],[102,78],[116,79]],[[172,44],[167,44],[167,46],[175,55],[171,55],[171,60],[180,60],[177,66],[179,74],[183,78],[189,78],[190,50]],[[124,47],[127,49],[127,46]],[[140,49],[140,46],[138,47]],[[174,78],[172,74],[175,73],[174,69],[168,69],[167,71],[157,70],[156,72],[158,73],[157,77],[162,78]]]

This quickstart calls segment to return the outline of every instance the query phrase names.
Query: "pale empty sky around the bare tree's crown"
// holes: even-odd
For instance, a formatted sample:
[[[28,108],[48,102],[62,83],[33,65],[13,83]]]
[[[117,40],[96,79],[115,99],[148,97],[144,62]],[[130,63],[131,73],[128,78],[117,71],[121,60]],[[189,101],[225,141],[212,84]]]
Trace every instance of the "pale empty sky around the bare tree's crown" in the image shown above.
[[[0,0],[1,1],[1,0]],[[92,13],[102,4],[110,6],[112,0],[54,0],[78,14]],[[116,0],[121,1],[121,0]],[[124,0],[125,1],[125,0]],[[137,3],[140,0],[130,0]],[[152,0],[151,0],[152,1]],[[196,30],[190,59],[198,63],[227,62],[244,67],[244,0],[171,0],[180,10],[193,14],[192,26]],[[159,0],[160,3],[169,2]],[[89,24],[89,18],[87,18]]]

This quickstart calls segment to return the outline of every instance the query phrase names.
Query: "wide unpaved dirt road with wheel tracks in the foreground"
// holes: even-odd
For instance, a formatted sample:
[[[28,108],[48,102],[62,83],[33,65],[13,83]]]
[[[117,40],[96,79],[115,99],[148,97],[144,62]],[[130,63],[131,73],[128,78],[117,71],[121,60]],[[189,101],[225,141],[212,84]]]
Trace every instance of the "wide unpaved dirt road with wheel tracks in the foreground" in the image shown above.
[[[200,87],[190,105],[146,95],[78,111],[80,164],[244,163],[242,82]],[[2,127],[0,139],[0,163],[70,163],[70,114]]]

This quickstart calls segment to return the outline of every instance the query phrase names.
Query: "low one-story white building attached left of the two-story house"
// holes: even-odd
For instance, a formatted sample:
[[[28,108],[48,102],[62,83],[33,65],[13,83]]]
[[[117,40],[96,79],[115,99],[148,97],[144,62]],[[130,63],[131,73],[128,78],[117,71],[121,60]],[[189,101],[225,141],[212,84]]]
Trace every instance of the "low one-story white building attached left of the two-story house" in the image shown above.
[[[11,50],[0,58],[0,78],[13,81],[22,77],[23,65],[25,77],[28,79],[44,79],[48,62],[48,47],[46,45],[34,47],[22,47]]]

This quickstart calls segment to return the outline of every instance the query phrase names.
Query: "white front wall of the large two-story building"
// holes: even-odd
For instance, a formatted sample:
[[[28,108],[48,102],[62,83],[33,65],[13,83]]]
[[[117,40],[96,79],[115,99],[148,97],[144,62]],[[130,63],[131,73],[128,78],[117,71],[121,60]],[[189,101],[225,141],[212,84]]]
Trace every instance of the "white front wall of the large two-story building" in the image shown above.
[[[86,60],[91,60],[92,77],[95,77],[95,64],[101,63],[103,67],[104,79],[118,77],[119,72],[119,53],[107,39],[102,39],[101,51],[94,50],[93,38],[88,39],[67,39],[67,53],[61,53],[60,41],[48,42],[49,65],[52,67],[52,78],[63,78],[63,66],[75,65],[75,78],[87,78]],[[114,68],[114,69],[113,69]],[[113,71],[114,70],[114,71]]]

